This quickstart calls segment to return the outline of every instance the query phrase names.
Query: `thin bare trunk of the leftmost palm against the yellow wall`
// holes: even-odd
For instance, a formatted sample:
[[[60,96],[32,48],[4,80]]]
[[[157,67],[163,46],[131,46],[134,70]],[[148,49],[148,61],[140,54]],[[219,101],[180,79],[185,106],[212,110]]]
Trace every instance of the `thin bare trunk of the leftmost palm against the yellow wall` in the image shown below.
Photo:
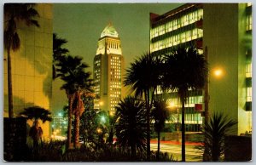
[[[14,103],[13,103],[13,82],[12,82],[12,67],[11,67],[11,56],[10,48],[7,49],[7,71],[8,71],[8,101],[9,101],[9,118],[14,117]]]

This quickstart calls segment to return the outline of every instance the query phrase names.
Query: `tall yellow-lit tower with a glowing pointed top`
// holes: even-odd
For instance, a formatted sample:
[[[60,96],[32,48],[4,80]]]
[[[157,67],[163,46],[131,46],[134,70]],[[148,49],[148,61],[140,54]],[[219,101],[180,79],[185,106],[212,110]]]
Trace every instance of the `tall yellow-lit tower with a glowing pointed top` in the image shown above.
[[[122,98],[124,57],[118,32],[111,24],[102,31],[94,58],[95,109],[115,111]]]

